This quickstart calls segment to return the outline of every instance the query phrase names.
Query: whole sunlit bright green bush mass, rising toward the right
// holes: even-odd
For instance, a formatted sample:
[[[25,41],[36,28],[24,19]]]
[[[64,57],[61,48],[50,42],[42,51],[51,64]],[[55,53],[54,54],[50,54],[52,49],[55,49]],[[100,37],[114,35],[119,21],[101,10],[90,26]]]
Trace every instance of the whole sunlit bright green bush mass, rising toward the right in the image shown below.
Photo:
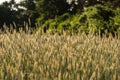
[[[64,30],[69,33],[84,31],[86,34],[109,34],[120,30],[120,9],[112,10],[107,6],[95,5],[84,9],[82,13],[70,15],[68,13],[55,19],[47,20],[42,27],[57,32]]]

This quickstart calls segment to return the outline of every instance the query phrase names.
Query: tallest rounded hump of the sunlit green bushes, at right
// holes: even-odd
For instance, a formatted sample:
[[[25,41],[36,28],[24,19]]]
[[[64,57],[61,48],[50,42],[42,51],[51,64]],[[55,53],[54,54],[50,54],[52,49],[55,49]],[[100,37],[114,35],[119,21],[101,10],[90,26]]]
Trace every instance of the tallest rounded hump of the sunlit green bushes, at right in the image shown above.
[[[80,23],[82,22],[82,25],[87,27],[88,32],[109,33],[112,28],[110,24],[112,16],[114,16],[114,13],[110,8],[95,5],[84,9]]]

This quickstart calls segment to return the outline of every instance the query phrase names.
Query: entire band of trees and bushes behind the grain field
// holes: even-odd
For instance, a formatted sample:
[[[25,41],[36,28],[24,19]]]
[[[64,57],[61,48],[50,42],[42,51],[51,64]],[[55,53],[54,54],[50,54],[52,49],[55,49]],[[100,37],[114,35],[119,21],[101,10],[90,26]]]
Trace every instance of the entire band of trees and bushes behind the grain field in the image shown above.
[[[120,0],[15,0],[0,5],[0,28],[69,33],[120,31]]]

